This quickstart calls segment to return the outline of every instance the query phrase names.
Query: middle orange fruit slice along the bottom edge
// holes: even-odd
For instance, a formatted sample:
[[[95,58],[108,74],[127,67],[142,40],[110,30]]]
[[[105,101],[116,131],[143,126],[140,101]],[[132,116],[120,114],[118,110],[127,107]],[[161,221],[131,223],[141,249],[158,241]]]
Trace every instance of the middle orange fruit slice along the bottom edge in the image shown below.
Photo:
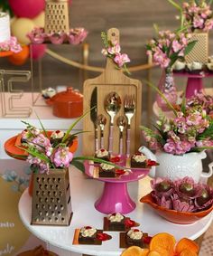
[[[153,236],[150,242],[150,251],[157,251],[161,256],[173,255],[175,238],[167,232],[160,232]]]

